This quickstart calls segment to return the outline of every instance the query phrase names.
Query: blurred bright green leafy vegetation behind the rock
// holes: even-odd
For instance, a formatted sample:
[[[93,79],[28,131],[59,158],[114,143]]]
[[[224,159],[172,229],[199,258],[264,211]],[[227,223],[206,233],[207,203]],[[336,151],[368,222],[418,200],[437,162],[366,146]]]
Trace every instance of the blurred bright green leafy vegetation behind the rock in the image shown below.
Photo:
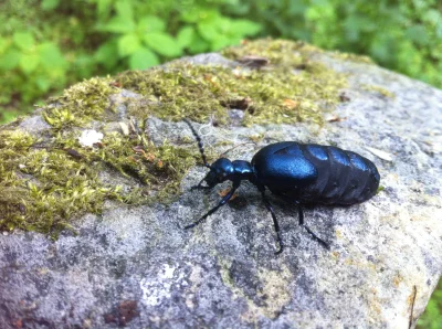
[[[83,78],[245,38],[366,54],[442,87],[439,0],[10,0],[0,3],[0,123]],[[442,328],[441,314],[442,287],[422,328]]]

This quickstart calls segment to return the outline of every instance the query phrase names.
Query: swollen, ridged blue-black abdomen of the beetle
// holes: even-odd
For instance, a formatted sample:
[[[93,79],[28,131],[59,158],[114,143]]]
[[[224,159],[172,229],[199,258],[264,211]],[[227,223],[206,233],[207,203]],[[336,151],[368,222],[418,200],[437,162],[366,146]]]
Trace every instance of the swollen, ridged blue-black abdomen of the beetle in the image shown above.
[[[308,179],[303,177],[298,180],[297,167],[292,166],[292,170],[287,171],[283,168],[284,162],[308,163],[306,167],[312,169],[312,173]],[[264,184],[272,192],[301,202],[359,203],[376,194],[380,180],[378,170],[370,160],[332,146],[277,142],[260,150],[253,157],[252,164],[259,179],[266,178]],[[269,170],[271,167],[278,168],[280,174],[273,174]],[[303,168],[299,170],[305,172]]]

